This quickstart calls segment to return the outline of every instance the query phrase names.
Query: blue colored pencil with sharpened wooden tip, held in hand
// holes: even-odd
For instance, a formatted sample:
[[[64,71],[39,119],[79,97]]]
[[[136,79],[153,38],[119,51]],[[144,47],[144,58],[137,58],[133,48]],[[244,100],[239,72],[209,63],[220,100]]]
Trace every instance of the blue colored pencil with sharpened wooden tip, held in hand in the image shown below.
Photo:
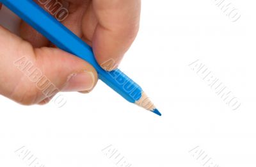
[[[161,113],[138,84],[118,69],[111,72],[102,69],[95,60],[92,48],[45,12],[33,0],[0,0],[0,2],[48,38],[54,45],[90,63],[97,70],[99,79],[108,84],[124,99],[161,116]]]

